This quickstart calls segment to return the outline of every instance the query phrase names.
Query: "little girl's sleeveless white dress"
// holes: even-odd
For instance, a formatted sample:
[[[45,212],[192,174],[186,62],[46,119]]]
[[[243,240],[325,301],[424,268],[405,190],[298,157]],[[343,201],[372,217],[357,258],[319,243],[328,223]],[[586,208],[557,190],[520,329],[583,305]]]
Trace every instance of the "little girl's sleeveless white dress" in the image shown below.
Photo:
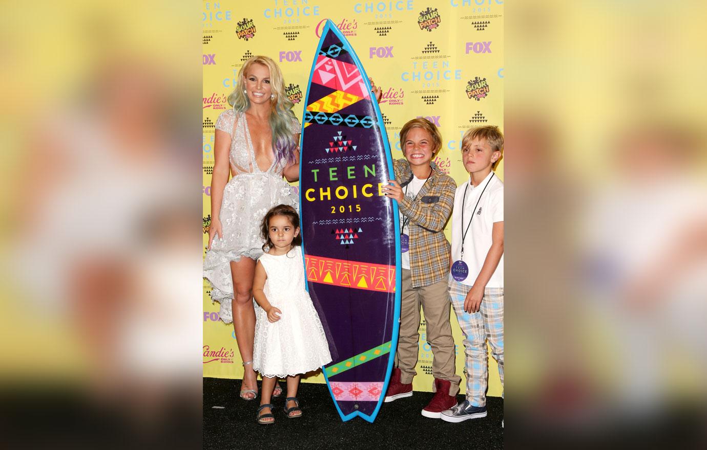
[[[280,320],[270,322],[265,310],[256,308],[253,370],[264,377],[284,378],[330,363],[322,322],[305,291],[302,249],[278,256],[265,253],[259,263],[267,273],[265,296],[282,313]]]

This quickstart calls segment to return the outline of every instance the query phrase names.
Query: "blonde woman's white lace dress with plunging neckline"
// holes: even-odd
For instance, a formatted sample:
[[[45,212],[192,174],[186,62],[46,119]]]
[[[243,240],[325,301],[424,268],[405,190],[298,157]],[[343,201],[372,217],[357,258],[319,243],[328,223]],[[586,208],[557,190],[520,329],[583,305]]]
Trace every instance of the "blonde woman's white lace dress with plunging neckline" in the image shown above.
[[[234,175],[223,189],[219,215],[223,238],[214,236],[211,250],[206,252],[204,278],[211,283],[211,300],[221,303],[221,320],[229,324],[233,322],[230,262],[243,256],[257,260],[263,253],[260,222],[265,213],[276,205],[299,209],[299,204],[292,187],[281,176],[284,162],[273,159],[267,171],[261,171],[256,164],[245,114],[235,113],[233,109],[223,111],[216,121],[216,129],[231,136],[229,161]],[[292,133],[300,133],[296,119]]]

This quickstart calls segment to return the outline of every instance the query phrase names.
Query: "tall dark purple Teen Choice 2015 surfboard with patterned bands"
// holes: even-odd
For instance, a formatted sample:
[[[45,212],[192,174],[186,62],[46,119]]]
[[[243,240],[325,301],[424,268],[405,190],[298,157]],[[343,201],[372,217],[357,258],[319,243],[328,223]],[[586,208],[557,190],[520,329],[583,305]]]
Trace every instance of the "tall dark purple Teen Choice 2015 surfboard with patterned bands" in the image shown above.
[[[373,422],[400,317],[400,241],[378,102],[351,44],[327,20],[305,95],[300,212],[307,288],[333,361],[322,367],[341,420]]]

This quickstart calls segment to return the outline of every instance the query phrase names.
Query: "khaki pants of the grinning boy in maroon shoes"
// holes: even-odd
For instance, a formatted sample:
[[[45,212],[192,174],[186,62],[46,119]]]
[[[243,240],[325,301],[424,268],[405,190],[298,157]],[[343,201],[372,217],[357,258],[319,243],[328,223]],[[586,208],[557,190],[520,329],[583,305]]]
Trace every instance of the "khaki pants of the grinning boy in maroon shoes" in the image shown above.
[[[432,347],[432,375],[451,382],[449,395],[459,393],[462,380],[455,370],[454,339],[449,322],[450,298],[446,279],[430,286],[412,287],[410,271],[402,269],[402,293],[400,308],[400,332],[395,365],[400,369],[400,382],[408,384],[417,375],[415,365],[419,355],[417,343],[420,338],[420,305],[425,312],[427,341]],[[433,384],[433,389],[435,389]]]

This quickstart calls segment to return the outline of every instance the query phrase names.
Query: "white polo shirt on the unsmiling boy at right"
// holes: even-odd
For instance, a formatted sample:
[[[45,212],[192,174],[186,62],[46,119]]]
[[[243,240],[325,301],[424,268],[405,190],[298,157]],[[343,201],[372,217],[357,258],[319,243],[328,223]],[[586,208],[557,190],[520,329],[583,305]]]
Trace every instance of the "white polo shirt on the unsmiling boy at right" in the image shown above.
[[[493,177],[493,178],[491,178]],[[489,186],[484,190],[486,183]],[[466,200],[464,200],[464,190],[467,190]],[[484,195],[479,200],[481,191]],[[471,225],[464,238],[464,258],[462,255],[462,200],[464,200],[464,230]],[[474,205],[479,205],[474,209]],[[474,209],[472,211],[472,209]],[[474,219],[472,219],[472,216]],[[503,182],[493,174],[484,178],[479,186],[467,181],[459,186],[454,195],[454,209],[452,210],[452,262],[462,259],[469,267],[469,275],[460,281],[462,284],[472,286],[476,281],[481,267],[484,265],[486,255],[491,248],[491,232],[494,222],[503,221]],[[503,255],[498,262],[496,271],[493,272],[487,288],[503,288]]]

